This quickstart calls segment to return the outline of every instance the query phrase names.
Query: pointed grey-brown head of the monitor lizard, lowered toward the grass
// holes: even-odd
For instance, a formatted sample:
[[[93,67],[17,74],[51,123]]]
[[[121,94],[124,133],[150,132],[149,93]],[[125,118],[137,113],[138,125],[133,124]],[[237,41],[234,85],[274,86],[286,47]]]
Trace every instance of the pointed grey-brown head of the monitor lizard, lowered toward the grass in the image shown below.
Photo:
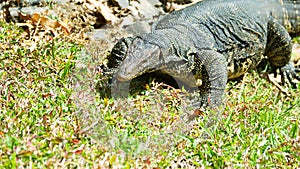
[[[132,80],[144,73],[160,69],[163,63],[162,52],[157,45],[135,38],[119,67],[117,79],[121,82]]]

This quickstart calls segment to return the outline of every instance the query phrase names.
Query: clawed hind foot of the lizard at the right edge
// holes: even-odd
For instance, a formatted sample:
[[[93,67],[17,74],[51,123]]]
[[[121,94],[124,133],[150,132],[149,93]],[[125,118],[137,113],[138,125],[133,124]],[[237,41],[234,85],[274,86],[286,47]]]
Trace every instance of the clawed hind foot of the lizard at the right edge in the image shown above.
[[[295,68],[292,63],[289,63],[283,66],[282,68],[280,68],[282,84],[290,84],[292,88],[297,88],[297,82],[295,82],[294,79],[300,81],[300,76],[298,75],[299,72],[300,69]]]

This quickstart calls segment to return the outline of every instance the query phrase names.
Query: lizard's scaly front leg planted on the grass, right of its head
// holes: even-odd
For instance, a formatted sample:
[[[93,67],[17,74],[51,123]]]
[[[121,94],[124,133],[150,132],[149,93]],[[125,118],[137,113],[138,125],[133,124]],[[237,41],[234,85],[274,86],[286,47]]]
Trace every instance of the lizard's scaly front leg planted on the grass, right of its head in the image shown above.
[[[199,106],[218,110],[228,79],[226,58],[213,50],[202,50],[193,55],[195,79],[202,81],[197,84],[200,92]]]

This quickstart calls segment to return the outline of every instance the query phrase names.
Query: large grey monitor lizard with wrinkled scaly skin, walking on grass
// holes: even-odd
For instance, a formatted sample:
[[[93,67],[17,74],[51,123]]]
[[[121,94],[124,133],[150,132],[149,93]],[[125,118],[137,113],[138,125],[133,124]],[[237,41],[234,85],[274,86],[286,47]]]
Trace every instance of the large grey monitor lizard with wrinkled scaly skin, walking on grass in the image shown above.
[[[153,71],[169,74],[199,89],[200,107],[216,108],[227,80],[256,68],[265,56],[289,80],[300,79],[289,63],[289,32],[300,32],[298,9],[300,1],[202,1],[166,15],[150,33],[120,40],[109,67],[117,68],[119,82]]]

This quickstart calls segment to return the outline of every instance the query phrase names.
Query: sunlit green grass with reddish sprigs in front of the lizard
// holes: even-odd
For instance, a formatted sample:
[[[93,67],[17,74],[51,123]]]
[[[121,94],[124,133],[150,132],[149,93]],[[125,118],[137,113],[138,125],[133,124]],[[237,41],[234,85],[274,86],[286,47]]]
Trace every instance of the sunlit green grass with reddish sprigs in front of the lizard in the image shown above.
[[[228,84],[219,120],[207,111],[188,123],[186,92],[149,84],[103,99],[93,90],[100,62],[82,44],[0,27],[1,168],[300,165],[299,87],[286,97],[250,72]]]

